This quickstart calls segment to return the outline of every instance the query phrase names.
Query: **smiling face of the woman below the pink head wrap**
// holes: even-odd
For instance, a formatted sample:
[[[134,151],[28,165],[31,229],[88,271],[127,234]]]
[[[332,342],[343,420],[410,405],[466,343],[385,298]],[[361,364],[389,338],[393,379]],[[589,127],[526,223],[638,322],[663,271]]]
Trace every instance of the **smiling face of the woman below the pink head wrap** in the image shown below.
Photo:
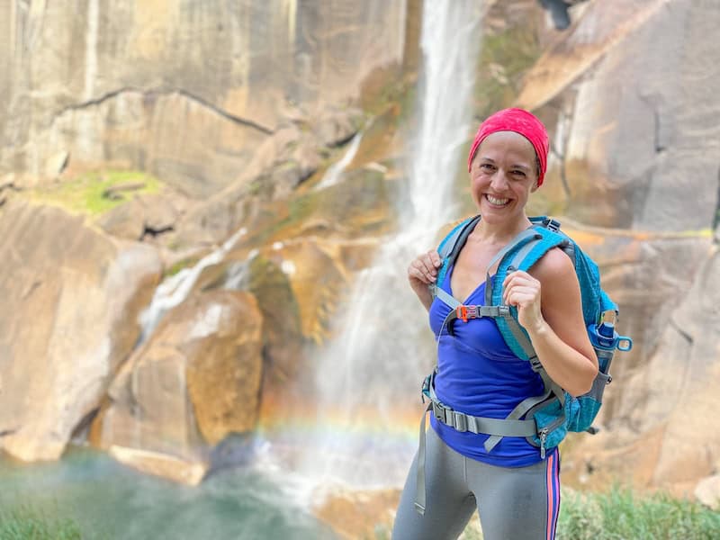
[[[533,145],[515,131],[497,131],[482,141],[470,168],[473,201],[489,223],[525,215],[530,193],[537,189]]]

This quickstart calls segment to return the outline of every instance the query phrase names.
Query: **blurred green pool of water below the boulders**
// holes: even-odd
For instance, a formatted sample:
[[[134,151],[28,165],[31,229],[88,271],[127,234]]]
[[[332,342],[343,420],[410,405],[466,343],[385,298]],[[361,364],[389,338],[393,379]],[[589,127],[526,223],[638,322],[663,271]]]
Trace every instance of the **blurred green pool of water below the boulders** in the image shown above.
[[[325,540],[338,538],[288,497],[277,475],[252,465],[187,487],[138,473],[108,455],[72,448],[58,462],[0,461],[0,508],[72,518],[89,539]]]

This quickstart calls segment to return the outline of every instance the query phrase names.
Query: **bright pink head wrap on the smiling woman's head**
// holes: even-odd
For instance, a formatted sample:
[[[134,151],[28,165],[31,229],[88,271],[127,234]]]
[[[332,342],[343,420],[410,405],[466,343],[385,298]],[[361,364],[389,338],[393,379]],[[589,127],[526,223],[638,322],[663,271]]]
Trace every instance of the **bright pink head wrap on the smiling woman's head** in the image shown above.
[[[473,164],[475,152],[480,148],[482,141],[496,131],[515,131],[530,141],[540,161],[540,175],[537,177],[537,186],[543,184],[545,171],[547,170],[547,153],[550,151],[550,141],[543,122],[537,120],[534,114],[524,109],[503,109],[495,112],[480,124],[480,129],[473,140],[473,147],[470,148],[470,155],[467,157],[468,172],[470,172],[470,166]]]

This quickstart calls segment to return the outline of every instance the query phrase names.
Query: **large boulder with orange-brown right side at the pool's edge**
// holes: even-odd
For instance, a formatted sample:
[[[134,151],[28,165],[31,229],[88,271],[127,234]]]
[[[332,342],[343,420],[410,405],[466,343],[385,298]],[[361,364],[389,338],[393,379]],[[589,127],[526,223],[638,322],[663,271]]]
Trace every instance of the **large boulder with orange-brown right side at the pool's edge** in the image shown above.
[[[191,296],[123,365],[91,440],[149,473],[200,482],[211,447],[257,423],[261,328],[249,293]]]

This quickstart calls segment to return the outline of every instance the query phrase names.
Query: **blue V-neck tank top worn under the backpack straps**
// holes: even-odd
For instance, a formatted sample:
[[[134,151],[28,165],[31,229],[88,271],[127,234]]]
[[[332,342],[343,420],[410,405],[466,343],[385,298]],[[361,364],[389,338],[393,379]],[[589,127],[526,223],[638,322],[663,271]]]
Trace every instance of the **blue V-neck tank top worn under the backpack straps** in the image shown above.
[[[448,269],[441,287],[452,294]],[[492,279],[492,278],[491,278]],[[485,284],[464,300],[467,305],[484,303]],[[543,393],[543,381],[530,364],[515,356],[491,318],[455,321],[455,337],[443,321],[450,307],[436,298],[430,306],[430,328],[437,339],[437,398],[454,410],[494,419],[506,418],[520,401]],[[521,467],[541,461],[540,450],[525,437],[503,437],[490,453],[483,444],[488,435],[461,433],[430,415],[432,428],[455,452],[486,464]]]

